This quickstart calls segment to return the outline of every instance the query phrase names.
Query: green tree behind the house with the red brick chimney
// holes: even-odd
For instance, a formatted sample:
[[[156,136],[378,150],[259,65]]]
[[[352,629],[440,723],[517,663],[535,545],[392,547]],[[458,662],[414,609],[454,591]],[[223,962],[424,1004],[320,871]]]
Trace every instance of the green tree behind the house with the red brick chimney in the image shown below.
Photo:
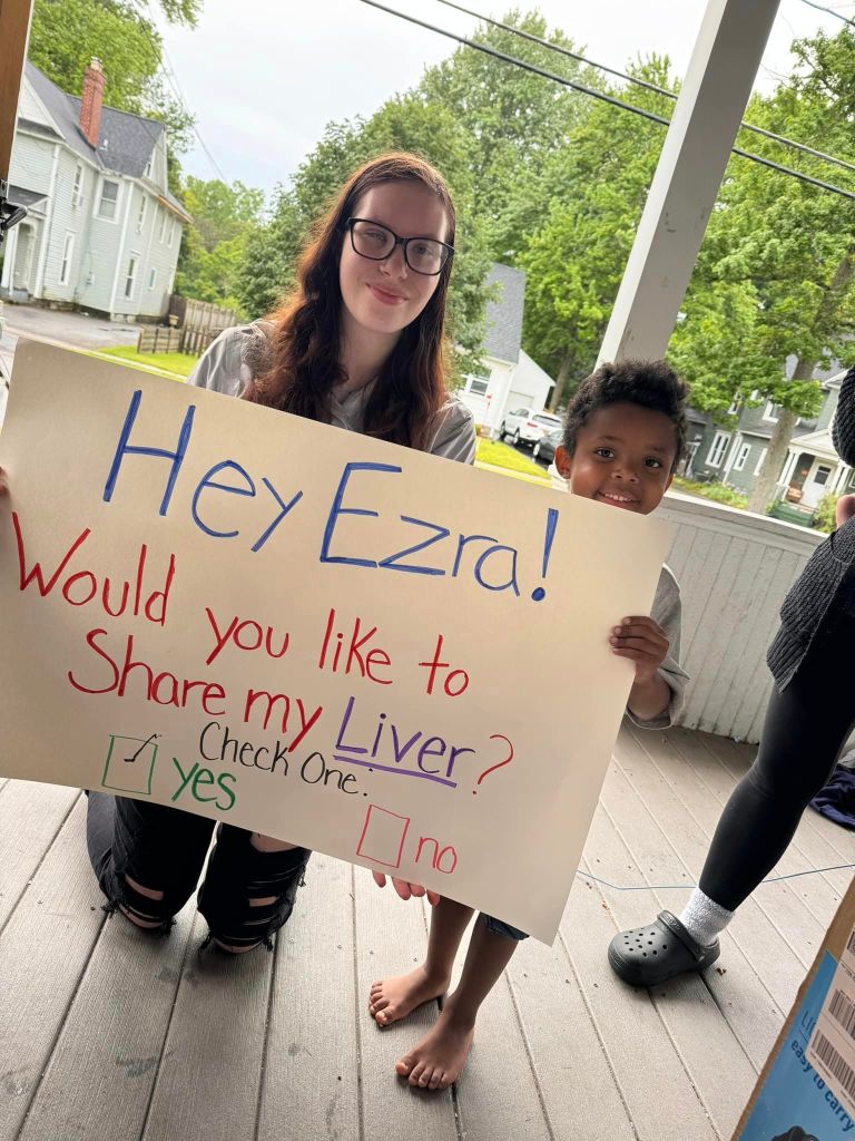
[[[172,23],[195,26],[201,0],[161,0]],[[106,75],[105,102],[162,121],[174,153],[189,146],[193,119],[160,74],[163,44],[142,0],[35,0],[28,58],[70,95],[80,95],[92,56]]]

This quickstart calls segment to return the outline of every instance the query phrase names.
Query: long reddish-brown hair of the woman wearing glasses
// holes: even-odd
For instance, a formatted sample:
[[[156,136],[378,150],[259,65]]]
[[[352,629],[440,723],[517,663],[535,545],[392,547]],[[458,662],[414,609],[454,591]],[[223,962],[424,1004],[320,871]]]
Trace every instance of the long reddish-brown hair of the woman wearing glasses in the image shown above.
[[[247,387],[246,399],[310,420],[329,419],[331,390],[347,379],[340,361],[343,302],[339,283],[344,222],[367,191],[397,181],[421,183],[437,195],[448,218],[446,241],[454,244],[454,204],[442,176],[430,163],[393,153],[355,171],[315,222],[294,291],[270,314],[272,365]],[[431,422],[447,398],[445,316],[451,260],[442,267],[430,301],[401,331],[380,371],[365,408],[364,431],[369,436],[427,446]]]

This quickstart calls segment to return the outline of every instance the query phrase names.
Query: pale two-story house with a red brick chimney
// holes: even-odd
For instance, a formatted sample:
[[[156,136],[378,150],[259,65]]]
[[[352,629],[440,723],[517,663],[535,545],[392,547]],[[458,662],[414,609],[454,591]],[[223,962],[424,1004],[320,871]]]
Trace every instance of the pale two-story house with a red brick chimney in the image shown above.
[[[190,218],[168,189],[163,123],[104,106],[105,82],[93,59],[76,98],[26,64],[9,200],[28,215],[9,232],[0,297],[156,318]]]

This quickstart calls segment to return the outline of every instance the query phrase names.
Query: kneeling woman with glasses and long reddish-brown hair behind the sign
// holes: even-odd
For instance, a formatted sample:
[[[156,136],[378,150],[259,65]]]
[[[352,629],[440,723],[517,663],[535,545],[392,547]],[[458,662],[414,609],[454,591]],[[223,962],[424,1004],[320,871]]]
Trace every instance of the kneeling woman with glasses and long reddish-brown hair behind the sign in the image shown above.
[[[267,321],[226,330],[192,383],[472,463],[474,424],[446,388],[455,212],[408,154],[356,171],[314,229],[298,283]],[[166,932],[198,882],[213,822],[89,794],[87,839],[112,909]],[[288,919],[310,852],[220,825],[198,893],[211,939],[251,950]]]

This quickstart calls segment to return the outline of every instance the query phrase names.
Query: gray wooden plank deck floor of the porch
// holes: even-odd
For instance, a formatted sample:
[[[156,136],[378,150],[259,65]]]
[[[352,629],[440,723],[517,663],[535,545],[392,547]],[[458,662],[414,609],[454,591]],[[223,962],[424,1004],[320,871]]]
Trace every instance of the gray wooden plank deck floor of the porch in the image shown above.
[[[693,882],[751,754],[621,730],[585,868]],[[74,790],[0,787],[0,1141],[728,1139],[850,876],[758,889],[707,977],[653,993],[605,946],[687,891],[579,877],[555,946],[523,944],[484,1004],[457,1086],[414,1094],[392,1065],[437,1010],[380,1031],[366,995],[421,958],[421,905],[316,857],[274,954],[199,960],[192,906],[165,940],[105,919],[83,823]],[[854,861],[808,812],[779,872]]]

